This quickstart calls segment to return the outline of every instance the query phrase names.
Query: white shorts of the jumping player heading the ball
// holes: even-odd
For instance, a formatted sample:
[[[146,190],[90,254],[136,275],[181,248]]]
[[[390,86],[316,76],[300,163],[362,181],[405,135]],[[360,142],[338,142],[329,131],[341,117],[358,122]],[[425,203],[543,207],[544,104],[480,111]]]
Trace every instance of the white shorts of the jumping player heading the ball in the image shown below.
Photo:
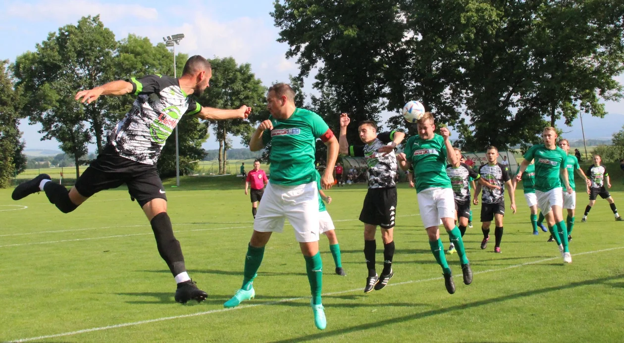
[[[442,218],[455,218],[455,198],[452,188],[427,188],[416,196],[425,228],[441,225]]]

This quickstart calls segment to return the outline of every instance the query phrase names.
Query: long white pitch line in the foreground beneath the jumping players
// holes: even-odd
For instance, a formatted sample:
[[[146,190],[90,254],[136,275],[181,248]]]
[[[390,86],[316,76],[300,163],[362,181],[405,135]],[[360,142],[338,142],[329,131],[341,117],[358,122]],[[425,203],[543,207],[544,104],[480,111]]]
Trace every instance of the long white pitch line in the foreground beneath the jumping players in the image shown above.
[[[616,248],[608,248],[608,249],[602,249],[602,250],[585,251],[585,253],[578,253],[578,254],[574,254],[573,256],[580,256],[580,255],[586,255],[586,254],[595,254],[595,253],[603,253],[605,251],[612,251],[612,250],[618,250],[618,249],[624,249],[624,246],[618,246]],[[519,268],[519,267],[522,267],[522,266],[529,266],[530,264],[538,264],[538,263],[542,263],[542,262],[552,261],[553,259],[560,259],[560,257],[539,259],[537,261],[531,261],[531,262],[525,262],[525,263],[520,263],[520,264],[514,264],[513,266],[508,266],[508,267],[504,267],[504,268],[487,269],[485,271],[478,271],[477,273],[474,273],[474,274],[485,274],[485,273],[492,273],[492,272],[495,272],[495,271],[504,271],[504,270],[507,270],[507,269]],[[442,277],[431,278],[431,279],[404,281],[402,283],[389,284],[386,287],[389,287],[389,286],[401,286],[403,284],[412,284],[412,283],[424,283],[424,282],[427,282],[427,281],[434,281],[434,280],[439,280],[439,279],[442,279]],[[336,295],[336,294],[351,293],[351,292],[357,292],[357,291],[361,291],[361,290],[362,290],[361,288],[349,289],[348,291],[338,291],[338,292],[325,293],[325,294],[323,294],[323,296],[333,296],[333,295]],[[263,302],[262,304],[251,304],[251,305],[237,306],[237,307],[233,307],[233,308],[230,308],[230,309],[216,309],[216,310],[197,312],[197,313],[191,313],[191,314],[182,314],[180,316],[171,316],[171,317],[161,317],[161,318],[155,318],[155,319],[148,319],[146,321],[127,322],[127,323],[115,324],[115,325],[110,325],[110,326],[92,327],[90,329],[82,329],[82,330],[78,330],[78,331],[63,332],[62,334],[54,334],[54,335],[47,335],[47,336],[22,338],[22,339],[17,339],[16,341],[8,341],[8,342],[5,342],[5,343],[31,342],[31,341],[39,341],[40,339],[49,339],[49,338],[57,338],[57,337],[74,336],[74,335],[77,335],[77,334],[85,334],[87,332],[104,331],[104,330],[109,330],[109,329],[118,329],[120,327],[128,327],[128,326],[137,326],[137,325],[142,325],[142,324],[149,324],[149,323],[153,323],[153,322],[171,321],[173,319],[182,319],[182,318],[188,318],[188,317],[204,316],[206,314],[220,313],[220,312],[227,312],[227,311],[235,311],[235,310],[238,310],[238,309],[248,309],[250,307],[256,307],[256,306],[275,305],[275,304],[280,304],[281,302],[290,302],[290,301],[297,301],[297,300],[304,300],[304,299],[309,299],[309,297],[291,297],[289,299],[281,299],[281,300],[278,300],[278,301]]]

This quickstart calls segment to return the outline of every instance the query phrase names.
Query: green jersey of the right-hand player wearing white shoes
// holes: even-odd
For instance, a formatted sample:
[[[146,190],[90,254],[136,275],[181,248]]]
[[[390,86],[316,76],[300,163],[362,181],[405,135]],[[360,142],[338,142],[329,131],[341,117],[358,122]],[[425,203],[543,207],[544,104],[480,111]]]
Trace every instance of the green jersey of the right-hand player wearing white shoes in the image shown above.
[[[535,190],[550,191],[561,187],[561,170],[567,155],[560,147],[550,150],[544,144],[532,146],[524,154],[525,160],[535,160]]]

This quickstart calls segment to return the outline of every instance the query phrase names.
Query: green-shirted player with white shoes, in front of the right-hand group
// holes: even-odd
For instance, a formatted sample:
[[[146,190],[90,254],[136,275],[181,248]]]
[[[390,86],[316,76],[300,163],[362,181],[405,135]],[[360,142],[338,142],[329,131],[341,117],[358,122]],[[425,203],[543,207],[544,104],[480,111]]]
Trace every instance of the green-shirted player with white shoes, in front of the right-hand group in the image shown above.
[[[572,194],[570,188],[568,170],[566,168],[567,153],[557,147],[557,132],[555,128],[544,128],[542,133],[544,144],[537,144],[529,148],[524,154],[524,161],[516,175],[517,181],[522,180],[522,175],[529,167],[531,160],[535,160],[535,196],[544,218],[548,223],[550,234],[557,241],[559,251],[566,263],[572,263],[572,256],[568,249],[568,228],[563,221],[562,207],[563,194],[562,183],[568,194]],[[554,227],[557,226],[557,229]]]

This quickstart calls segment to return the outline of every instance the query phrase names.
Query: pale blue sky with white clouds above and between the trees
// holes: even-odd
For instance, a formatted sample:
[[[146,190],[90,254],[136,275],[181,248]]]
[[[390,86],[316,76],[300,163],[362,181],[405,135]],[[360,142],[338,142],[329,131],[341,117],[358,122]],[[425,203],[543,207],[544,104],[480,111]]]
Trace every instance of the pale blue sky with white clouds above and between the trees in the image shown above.
[[[183,3],[184,6],[178,6]],[[48,32],[60,26],[76,23],[80,17],[100,14],[105,26],[112,29],[117,39],[129,33],[149,37],[158,42],[163,36],[183,33],[179,51],[205,57],[232,56],[239,63],[250,63],[252,70],[265,85],[288,80],[289,74],[297,74],[294,60],[287,60],[286,44],[276,42],[278,29],[273,26],[269,12],[272,0],[229,1],[86,1],[86,0],[35,0],[0,2],[0,35],[15,37],[10,44],[3,44],[0,59],[15,60],[26,51],[34,51],[38,42],[44,41]],[[617,78],[624,82],[624,77]],[[306,82],[306,92],[311,92],[311,80]],[[586,138],[608,138],[624,125],[624,104],[608,102],[610,114],[604,119],[585,117]],[[391,114],[382,115],[388,118]],[[563,123],[558,123],[562,126]],[[28,125],[22,120],[26,148],[58,149],[56,141],[41,141],[39,125]],[[564,128],[566,137],[581,138],[580,122]],[[238,138],[234,147],[242,147]],[[210,138],[205,148],[217,148]],[[90,150],[94,150],[91,146]]]

